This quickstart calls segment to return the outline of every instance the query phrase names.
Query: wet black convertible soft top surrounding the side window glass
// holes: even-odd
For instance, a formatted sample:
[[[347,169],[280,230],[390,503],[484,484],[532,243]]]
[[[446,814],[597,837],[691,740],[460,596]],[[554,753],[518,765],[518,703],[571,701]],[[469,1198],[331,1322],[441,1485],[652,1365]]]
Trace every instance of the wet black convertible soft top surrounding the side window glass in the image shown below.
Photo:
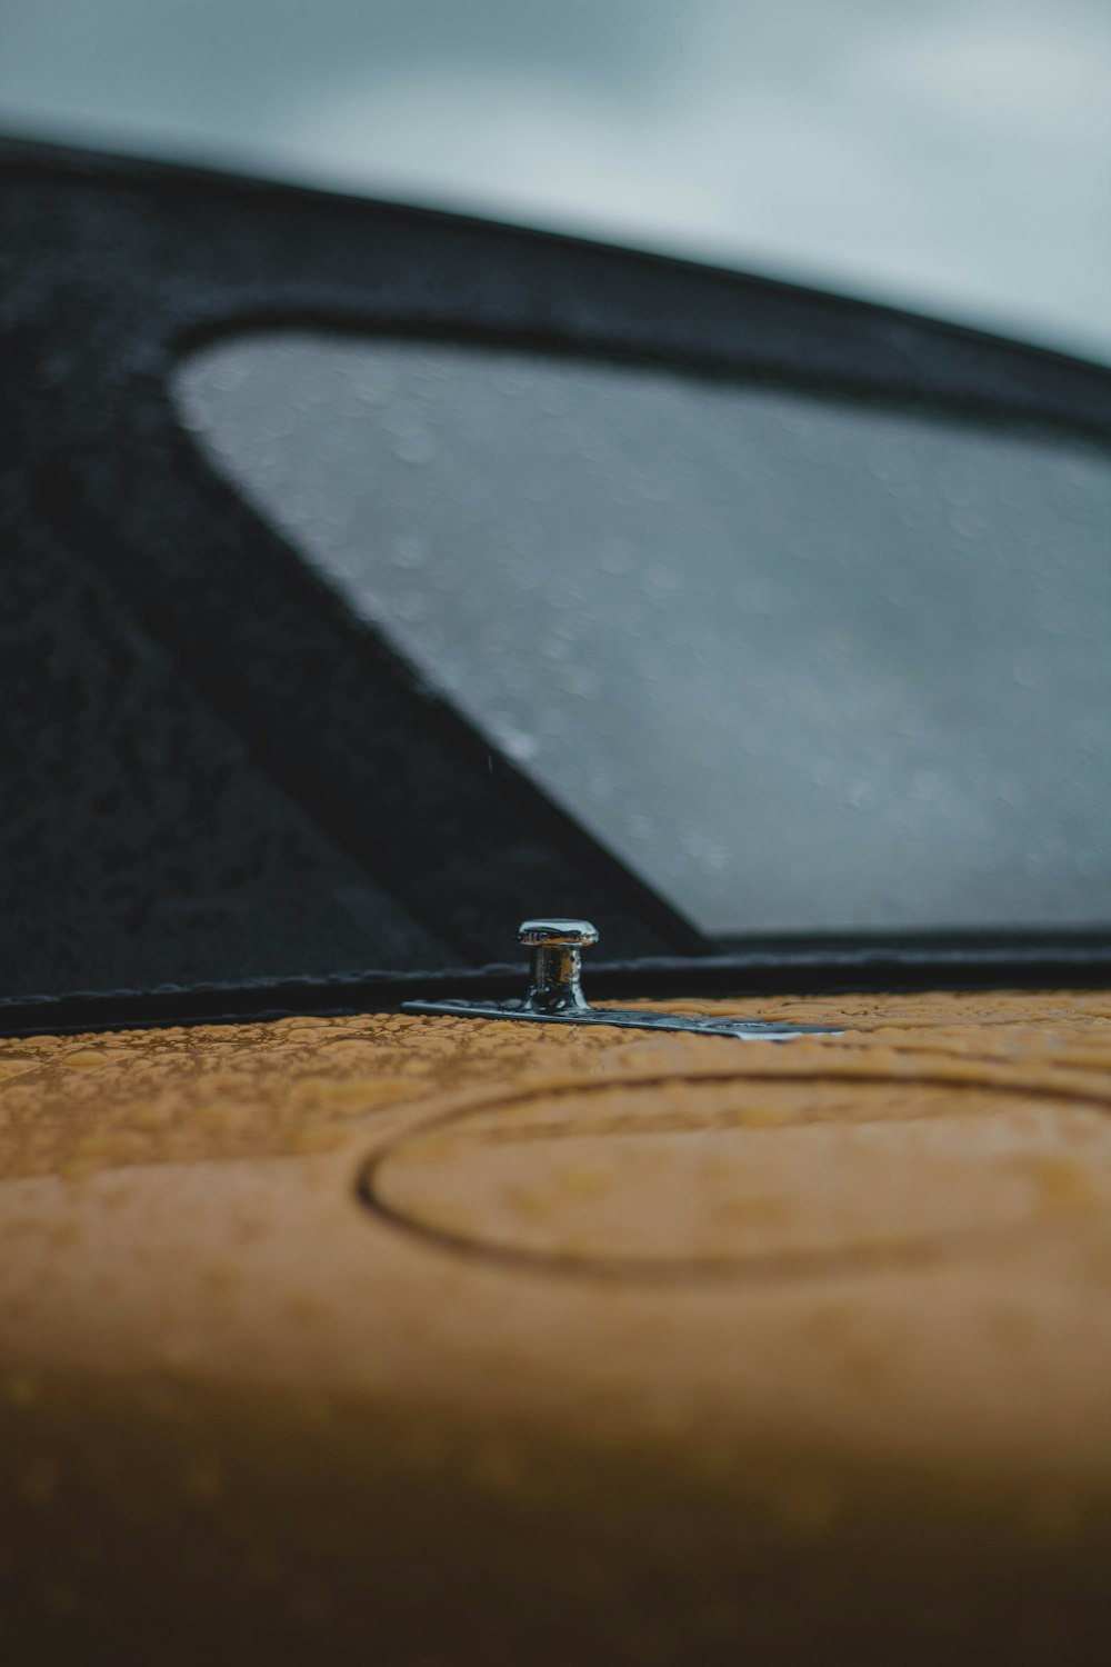
[[[0,163],[0,992],[28,1025],[320,1005],[321,979],[366,1005],[405,965],[485,965],[530,914],[586,914],[673,980],[711,949],[215,478],[168,387],[205,337],[486,338],[1111,433],[1106,372],[883,308],[173,168]],[[92,1007],[28,1010],[75,990]]]

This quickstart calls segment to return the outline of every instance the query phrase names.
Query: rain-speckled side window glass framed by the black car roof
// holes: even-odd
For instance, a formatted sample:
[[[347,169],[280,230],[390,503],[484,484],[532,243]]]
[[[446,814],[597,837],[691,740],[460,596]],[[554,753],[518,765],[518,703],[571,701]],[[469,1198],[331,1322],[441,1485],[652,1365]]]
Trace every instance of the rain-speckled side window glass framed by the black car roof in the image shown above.
[[[272,332],[210,460],[710,935],[1111,920],[1111,463],[658,368]]]

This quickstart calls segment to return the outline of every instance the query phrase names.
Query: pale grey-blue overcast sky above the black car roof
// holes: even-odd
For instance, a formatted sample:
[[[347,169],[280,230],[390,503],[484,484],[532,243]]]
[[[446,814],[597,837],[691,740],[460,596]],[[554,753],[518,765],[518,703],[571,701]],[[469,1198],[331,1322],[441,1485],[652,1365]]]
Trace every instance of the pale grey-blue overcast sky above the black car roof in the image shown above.
[[[0,0],[0,125],[1111,358],[1106,0]]]

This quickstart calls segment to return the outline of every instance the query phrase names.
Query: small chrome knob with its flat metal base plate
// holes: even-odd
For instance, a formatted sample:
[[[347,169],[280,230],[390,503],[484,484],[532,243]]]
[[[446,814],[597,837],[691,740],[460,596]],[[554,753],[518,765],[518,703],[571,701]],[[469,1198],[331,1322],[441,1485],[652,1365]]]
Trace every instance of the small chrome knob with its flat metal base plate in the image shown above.
[[[616,1025],[621,1030],[696,1030],[706,1035],[786,1042],[798,1035],[838,1035],[828,1025],[790,1025],[758,1019],[715,1019],[710,1014],[658,1014],[633,1007],[591,1007],[583,995],[583,950],[598,942],[590,920],[523,920],[518,942],[531,955],[531,979],[523,1000],[403,1002],[406,1014],[455,1014],[466,1019],[525,1019],[548,1025]]]

